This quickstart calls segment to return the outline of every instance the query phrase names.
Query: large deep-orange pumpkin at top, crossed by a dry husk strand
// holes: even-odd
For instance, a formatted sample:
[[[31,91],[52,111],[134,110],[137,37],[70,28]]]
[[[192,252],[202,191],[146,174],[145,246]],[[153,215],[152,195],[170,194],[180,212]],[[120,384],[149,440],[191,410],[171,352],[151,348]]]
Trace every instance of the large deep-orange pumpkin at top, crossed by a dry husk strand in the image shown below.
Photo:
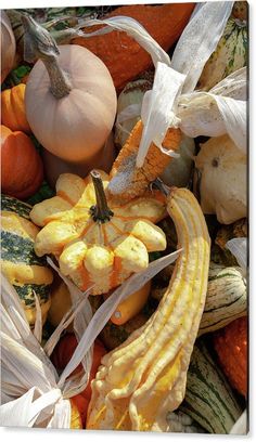
[[[167,51],[178,40],[193,9],[194,3],[129,4],[116,8],[104,18],[117,15],[135,18]],[[99,26],[86,27],[82,30],[93,32]],[[103,36],[77,37],[72,43],[81,44],[103,61],[117,90],[121,90],[128,81],[152,66],[151,56],[146,51],[125,32],[114,30]]]

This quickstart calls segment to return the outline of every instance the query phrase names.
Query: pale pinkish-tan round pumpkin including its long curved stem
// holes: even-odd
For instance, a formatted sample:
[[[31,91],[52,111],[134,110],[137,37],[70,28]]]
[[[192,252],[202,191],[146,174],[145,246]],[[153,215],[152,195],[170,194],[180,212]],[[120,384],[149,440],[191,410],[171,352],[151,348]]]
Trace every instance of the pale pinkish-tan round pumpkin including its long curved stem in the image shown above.
[[[31,17],[23,16],[23,22],[25,58],[41,58],[29,74],[25,93],[33,133],[66,161],[97,164],[116,114],[116,91],[107,68],[85,48],[57,48]]]

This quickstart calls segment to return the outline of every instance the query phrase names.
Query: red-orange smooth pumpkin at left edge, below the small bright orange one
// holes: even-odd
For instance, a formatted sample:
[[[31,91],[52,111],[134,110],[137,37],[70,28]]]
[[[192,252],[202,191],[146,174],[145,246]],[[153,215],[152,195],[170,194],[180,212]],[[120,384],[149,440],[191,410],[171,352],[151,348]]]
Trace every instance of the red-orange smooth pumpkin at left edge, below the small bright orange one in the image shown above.
[[[2,192],[25,199],[37,192],[42,180],[42,160],[30,138],[1,126]]]

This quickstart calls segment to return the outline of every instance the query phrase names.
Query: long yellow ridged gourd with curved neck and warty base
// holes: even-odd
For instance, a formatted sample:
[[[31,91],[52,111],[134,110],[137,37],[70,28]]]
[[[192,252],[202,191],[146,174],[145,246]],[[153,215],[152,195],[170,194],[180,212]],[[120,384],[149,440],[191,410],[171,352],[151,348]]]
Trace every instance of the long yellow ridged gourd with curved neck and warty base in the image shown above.
[[[172,187],[167,210],[180,255],[157,310],[102,359],[92,381],[88,429],[166,431],[167,411],[184,398],[187,370],[203,313],[209,236],[194,195]]]

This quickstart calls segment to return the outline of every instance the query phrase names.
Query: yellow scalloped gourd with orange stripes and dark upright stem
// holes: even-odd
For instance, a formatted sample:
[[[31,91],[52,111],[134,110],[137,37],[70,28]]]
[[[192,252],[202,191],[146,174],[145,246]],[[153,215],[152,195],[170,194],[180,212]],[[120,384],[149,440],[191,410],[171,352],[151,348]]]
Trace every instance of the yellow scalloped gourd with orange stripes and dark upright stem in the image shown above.
[[[35,251],[53,253],[61,272],[93,295],[107,292],[149,264],[149,251],[164,250],[164,232],[154,223],[165,216],[157,193],[126,205],[106,199],[110,178],[92,171],[82,180],[63,173],[56,196],[34,206],[30,218],[42,226]],[[158,198],[157,198],[158,196]]]

